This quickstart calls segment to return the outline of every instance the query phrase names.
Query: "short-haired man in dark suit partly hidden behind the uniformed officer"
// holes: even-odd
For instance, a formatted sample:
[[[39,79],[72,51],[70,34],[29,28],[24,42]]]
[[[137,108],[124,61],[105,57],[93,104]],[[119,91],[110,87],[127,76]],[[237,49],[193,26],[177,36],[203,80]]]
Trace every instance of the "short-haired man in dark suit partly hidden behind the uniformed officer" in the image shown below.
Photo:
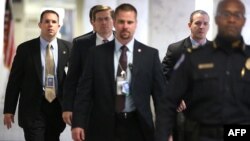
[[[162,61],[163,72],[167,80],[171,77],[175,63],[187,48],[197,48],[198,46],[210,42],[206,39],[209,30],[209,15],[206,11],[195,10],[192,12],[188,27],[191,32],[190,36],[181,41],[170,44],[166,56]]]

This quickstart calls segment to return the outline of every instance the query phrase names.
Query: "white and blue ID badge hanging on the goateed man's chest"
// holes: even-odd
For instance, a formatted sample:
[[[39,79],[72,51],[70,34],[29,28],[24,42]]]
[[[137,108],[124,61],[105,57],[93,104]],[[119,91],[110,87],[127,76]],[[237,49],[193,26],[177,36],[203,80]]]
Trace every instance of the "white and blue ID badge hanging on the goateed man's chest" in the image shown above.
[[[117,95],[129,95],[129,83],[125,78],[117,77],[116,93]]]

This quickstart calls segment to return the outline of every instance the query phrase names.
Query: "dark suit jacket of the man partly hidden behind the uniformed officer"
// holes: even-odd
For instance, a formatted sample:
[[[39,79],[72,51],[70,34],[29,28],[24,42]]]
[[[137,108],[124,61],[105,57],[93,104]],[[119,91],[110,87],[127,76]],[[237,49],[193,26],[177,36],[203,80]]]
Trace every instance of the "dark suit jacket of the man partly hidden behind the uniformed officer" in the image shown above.
[[[211,41],[207,40],[207,43],[211,43]],[[207,44],[206,43],[206,44]],[[170,44],[168,46],[168,50],[166,56],[163,58],[162,66],[163,66],[163,73],[167,80],[170,79],[170,75],[173,71],[174,65],[181,57],[181,54],[185,52],[187,48],[191,48],[192,43],[190,37],[187,37],[179,42]]]

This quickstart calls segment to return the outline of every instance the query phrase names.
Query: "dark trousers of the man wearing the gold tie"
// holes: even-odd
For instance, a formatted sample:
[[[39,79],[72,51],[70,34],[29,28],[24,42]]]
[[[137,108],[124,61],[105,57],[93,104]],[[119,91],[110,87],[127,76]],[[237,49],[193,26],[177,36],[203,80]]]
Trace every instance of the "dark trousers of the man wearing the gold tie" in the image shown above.
[[[32,126],[23,127],[24,137],[26,141],[59,141],[65,126],[59,101],[49,103],[43,99],[40,114]]]

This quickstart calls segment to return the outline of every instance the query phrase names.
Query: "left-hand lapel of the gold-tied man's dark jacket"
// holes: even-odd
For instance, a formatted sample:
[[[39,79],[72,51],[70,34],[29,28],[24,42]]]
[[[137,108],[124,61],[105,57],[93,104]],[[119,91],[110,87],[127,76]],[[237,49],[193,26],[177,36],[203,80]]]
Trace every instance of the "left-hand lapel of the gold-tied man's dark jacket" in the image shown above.
[[[41,62],[40,39],[37,38],[32,46],[34,46],[31,48],[32,49],[31,52],[32,52],[33,59],[34,59],[35,69],[36,69],[39,81],[43,85],[43,79],[42,79],[43,71],[42,71],[42,62]]]

